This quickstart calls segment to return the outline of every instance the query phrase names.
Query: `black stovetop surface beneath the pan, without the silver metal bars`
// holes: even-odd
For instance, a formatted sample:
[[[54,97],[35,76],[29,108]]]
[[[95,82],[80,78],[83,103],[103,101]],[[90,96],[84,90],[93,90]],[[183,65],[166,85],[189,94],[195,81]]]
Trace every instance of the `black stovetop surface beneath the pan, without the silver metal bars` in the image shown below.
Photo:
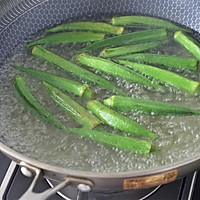
[[[0,152],[0,185],[5,177],[11,160]],[[13,175],[10,178],[9,185],[4,193],[3,200],[17,200],[27,190],[32,178],[25,177],[18,166],[16,166]],[[42,192],[50,186],[44,178],[41,178],[36,185],[35,191]],[[153,189],[152,189],[153,190]],[[151,189],[149,189],[151,191]],[[1,189],[0,189],[1,192]],[[69,195],[70,196],[70,195]],[[135,200],[141,196],[133,191],[120,193],[82,193],[81,200]],[[49,200],[62,200],[58,194],[49,198]],[[74,197],[76,200],[77,198]],[[200,199],[200,172],[194,172],[188,176],[176,180],[172,183],[161,186],[155,193],[145,198],[146,200],[199,200]]]

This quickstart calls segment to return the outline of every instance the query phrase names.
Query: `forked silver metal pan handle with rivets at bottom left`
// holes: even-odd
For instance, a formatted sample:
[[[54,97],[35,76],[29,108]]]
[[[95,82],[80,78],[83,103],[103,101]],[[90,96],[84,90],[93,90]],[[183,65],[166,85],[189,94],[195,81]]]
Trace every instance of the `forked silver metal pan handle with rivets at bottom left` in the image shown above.
[[[41,193],[35,193],[33,192],[33,190],[37,183],[37,180],[39,179],[39,176],[41,175],[41,169],[30,166],[25,162],[21,162],[20,166],[21,169],[23,169],[23,171],[25,172],[24,174],[26,174],[27,176],[31,176],[31,174],[33,173],[35,176],[28,190],[20,197],[19,200],[29,200],[29,199],[45,200],[48,197],[55,194],[60,189],[67,187],[71,184],[76,184],[78,188],[80,187],[80,185],[82,186],[85,185],[87,186],[88,190],[91,190],[93,186],[93,183],[90,180],[68,176],[66,177],[66,179],[60,182],[56,187],[47,189],[46,191]]]

